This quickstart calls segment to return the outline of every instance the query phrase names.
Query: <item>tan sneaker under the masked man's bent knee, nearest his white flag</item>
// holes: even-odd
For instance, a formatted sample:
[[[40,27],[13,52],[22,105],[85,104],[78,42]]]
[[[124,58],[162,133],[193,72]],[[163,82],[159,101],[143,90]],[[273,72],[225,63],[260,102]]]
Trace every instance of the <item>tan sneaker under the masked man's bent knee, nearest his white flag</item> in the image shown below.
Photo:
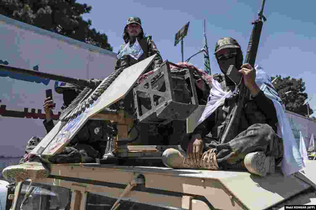
[[[266,156],[264,152],[252,152],[245,156],[246,169],[253,174],[266,176],[267,173],[275,172],[275,157]]]

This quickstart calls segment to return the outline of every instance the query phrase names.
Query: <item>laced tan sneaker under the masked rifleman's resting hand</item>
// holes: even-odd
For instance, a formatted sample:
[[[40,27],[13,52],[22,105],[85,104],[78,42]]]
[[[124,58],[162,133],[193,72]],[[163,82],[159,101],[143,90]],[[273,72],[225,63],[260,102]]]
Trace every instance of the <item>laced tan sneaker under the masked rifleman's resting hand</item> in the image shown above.
[[[219,169],[216,161],[216,149],[207,150],[199,160],[193,161],[187,157],[184,151],[169,148],[163,152],[162,162],[169,168]]]

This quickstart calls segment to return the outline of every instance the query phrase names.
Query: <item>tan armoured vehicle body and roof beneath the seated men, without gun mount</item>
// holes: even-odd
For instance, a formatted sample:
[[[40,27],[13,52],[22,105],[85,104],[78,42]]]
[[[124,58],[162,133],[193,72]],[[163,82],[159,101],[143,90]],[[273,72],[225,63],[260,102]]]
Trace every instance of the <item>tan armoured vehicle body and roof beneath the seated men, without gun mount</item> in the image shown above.
[[[115,164],[53,164],[48,178],[15,184],[10,209],[284,209],[316,204],[315,163],[284,177]]]

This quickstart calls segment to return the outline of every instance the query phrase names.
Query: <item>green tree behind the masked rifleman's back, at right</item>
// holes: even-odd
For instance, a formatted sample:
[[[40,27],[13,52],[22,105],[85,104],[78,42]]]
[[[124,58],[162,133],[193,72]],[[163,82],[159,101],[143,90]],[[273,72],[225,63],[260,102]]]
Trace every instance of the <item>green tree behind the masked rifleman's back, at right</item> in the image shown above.
[[[305,93],[305,82],[301,79],[295,79],[290,77],[281,78],[281,75],[276,75],[278,79],[273,83],[274,87],[279,93],[282,101],[287,110],[295,112],[301,115],[307,115],[307,108],[309,109],[309,114],[313,114],[313,110],[304,104],[308,98],[307,93]],[[271,80],[276,77],[271,77]]]

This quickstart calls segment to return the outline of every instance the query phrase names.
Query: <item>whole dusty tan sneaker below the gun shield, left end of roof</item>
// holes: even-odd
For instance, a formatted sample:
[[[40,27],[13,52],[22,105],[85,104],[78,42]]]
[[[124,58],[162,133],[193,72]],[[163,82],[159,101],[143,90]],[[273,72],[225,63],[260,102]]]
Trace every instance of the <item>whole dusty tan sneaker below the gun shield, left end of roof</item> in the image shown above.
[[[16,166],[8,166],[2,171],[3,177],[9,181],[22,182],[27,179],[41,179],[49,176],[49,169],[44,166],[40,157]]]

